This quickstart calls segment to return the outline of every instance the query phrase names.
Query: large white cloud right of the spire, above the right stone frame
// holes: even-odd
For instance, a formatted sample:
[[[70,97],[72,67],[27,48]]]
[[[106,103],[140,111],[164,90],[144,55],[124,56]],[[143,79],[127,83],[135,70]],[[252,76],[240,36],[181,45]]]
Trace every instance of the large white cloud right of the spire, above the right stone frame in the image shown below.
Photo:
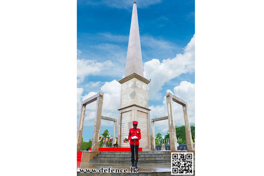
[[[157,96],[165,82],[180,76],[183,73],[194,72],[195,35],[184,48],[183,54],[164,59],[152,59],[144,64],[144,76],[151,79],[149,87],[149,99],[159,99]]]

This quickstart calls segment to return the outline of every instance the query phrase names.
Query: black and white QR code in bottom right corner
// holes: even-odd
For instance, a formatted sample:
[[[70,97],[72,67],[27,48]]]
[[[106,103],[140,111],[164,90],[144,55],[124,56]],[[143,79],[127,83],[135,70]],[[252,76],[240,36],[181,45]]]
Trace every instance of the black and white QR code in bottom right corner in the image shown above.
[[[171,175],[193,175],[193,153],[171,153]]]

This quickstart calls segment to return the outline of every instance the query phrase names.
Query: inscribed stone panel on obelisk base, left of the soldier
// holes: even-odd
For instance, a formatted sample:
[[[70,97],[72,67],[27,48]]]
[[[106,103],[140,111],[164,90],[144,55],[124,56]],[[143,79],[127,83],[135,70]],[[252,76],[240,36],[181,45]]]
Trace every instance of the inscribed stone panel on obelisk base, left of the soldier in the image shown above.
[[[124,138],[128,138],[129,129],[132,128],[132,111],[121,113],[121,147],[124,146]]]

